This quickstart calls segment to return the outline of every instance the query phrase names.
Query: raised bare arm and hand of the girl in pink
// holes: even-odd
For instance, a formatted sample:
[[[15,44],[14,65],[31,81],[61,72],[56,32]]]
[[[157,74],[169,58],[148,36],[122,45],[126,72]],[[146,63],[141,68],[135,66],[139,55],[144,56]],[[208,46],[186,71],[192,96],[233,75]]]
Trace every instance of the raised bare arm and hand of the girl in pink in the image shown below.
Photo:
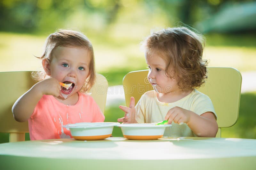
[[[54,78],[36,83],[13,104],[12,113],[14,119],[18,122],[27,121],[43,95],[59,96],[60,89],[59,82]]]

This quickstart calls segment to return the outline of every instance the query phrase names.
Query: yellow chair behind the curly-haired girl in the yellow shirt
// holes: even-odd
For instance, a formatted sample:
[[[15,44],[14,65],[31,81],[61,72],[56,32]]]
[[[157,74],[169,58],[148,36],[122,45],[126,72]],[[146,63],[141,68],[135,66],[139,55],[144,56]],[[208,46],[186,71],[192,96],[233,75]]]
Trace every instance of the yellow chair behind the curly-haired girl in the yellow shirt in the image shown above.
[[[124,76],[123,86],[126,105],[130,98],[135,104],[142,94],[153,90],[148,82],[148,70],[133,71]],[[197,90],[209,96],[218,116],[219,126],[216,137],[221,137],[221,128],[233,126],[238,118],[242,76],[238,70],[229,67],[208,67],[208,79],[205,86]]]

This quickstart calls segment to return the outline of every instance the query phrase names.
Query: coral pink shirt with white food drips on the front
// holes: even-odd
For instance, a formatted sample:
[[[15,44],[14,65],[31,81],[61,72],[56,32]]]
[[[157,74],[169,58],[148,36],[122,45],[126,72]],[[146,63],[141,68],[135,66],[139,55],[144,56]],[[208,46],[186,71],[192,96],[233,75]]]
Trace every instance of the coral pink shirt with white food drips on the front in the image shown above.
[[[73,105],[60,103],[51,95],[44,95],[28,119],[30,140],[72,138],[62,125],[79,122],[103,122],[105,117],[92,96],[78,93]]]

